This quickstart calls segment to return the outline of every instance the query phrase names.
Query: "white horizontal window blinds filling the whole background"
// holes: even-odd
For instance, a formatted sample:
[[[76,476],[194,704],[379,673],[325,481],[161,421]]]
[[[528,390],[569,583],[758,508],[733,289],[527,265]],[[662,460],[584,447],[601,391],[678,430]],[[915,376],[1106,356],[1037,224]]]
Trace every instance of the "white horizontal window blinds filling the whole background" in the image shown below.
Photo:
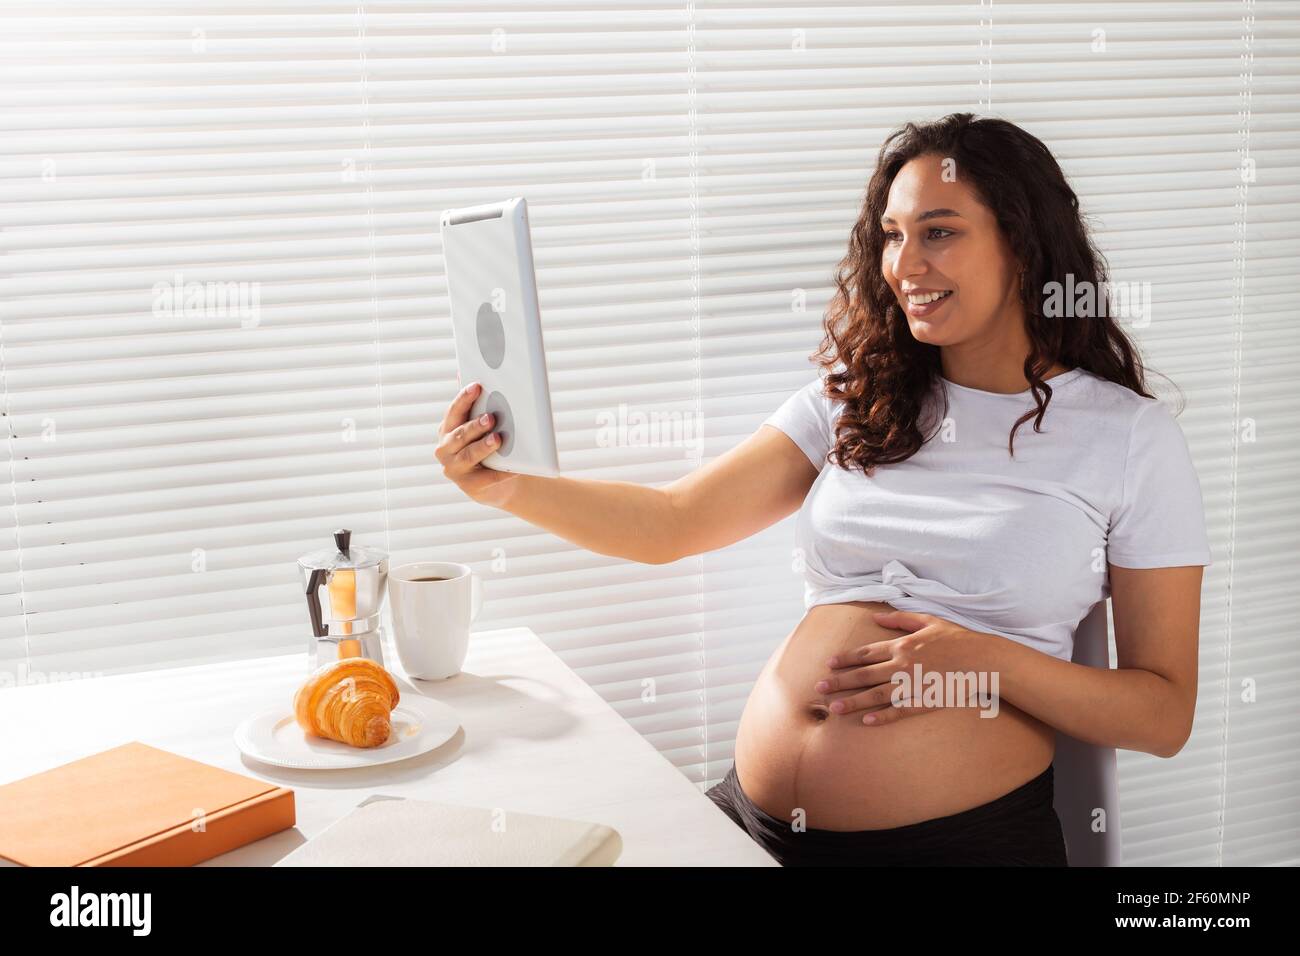
[[[658,485],[809,381],[880,140],[970,109],[1061,160],[1112,278],[1152,284],[1132,333],[1187,401],[1216,557],[1196,728],[1169,761],[1121,752],[1124,861],[1300,860],[1292,5],[0,18],[0,670],[298,650],[294,562],[350,527],[394,563],[474,566],[476,627],[532,627],[682,773],[719,779],[802,613],[793,524],[644,566],[446,483],[438,212],[528,196],[562,468]]]

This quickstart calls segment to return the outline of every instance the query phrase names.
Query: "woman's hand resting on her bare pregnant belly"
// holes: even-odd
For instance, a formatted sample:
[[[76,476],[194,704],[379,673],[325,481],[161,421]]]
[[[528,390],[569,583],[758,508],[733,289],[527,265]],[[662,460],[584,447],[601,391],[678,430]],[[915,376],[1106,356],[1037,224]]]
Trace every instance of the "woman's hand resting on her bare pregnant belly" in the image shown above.
[[[871,726],[949,706],[980,706],[997,715],[997,674],[971,667],[979,659],[980,632],[933,614],[889,610],[871,617],[905,633],[827,661],[827,674],[812,691],[836,696],[828,704],[831,714],[854,715]],[[864,689],[853,693],[858,688]]]

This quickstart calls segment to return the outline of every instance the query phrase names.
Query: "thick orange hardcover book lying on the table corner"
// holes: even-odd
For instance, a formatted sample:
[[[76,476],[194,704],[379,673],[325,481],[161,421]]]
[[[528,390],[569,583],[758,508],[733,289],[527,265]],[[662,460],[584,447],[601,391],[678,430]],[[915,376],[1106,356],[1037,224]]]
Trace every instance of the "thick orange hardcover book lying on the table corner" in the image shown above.
[[[0,786],[23,866],[192,866],[294,822],[294,791],[139,741]]]

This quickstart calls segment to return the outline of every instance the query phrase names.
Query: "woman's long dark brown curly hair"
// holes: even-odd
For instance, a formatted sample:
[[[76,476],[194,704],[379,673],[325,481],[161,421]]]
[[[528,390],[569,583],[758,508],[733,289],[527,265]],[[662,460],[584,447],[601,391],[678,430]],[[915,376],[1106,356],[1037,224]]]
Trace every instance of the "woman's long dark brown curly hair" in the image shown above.
[[[939,385],[939,346],[911,334],[881,269],[880,228],[894,177],[923,155],[956,161],[958,176],[993,212],[1024,267],[1020,300],[1031,342],[1024,377],[1037,408],[1011,425],[1008,453],[1014,458],[1015,432],[1031,418],[1034,429],[1041,431],[1052,398],[1041,375],[1057,362],[1153,398],[1138,349],[1112,317],[1110,303],[1100,307],[1109,289],[1106,264],[1084,228],[1078,196],[1046,146],[1005,120],[952,113],[933,122],[909,122],[885,139],[849,251],[836,271],[836,294],[823,321],[826,337],[811,356],[828,371],[826,394],[845,402],[831,459],[870,475],[876,464],[910,458],[927,441],[919,419],[927,395]],[[1069,274],[1075,287],[1092,284],[1101,315],[1074,321],[1043,315],[1041,290],[1049,282],[1065,286]],[[837,364],[844,369],[833,371]],[[939,419],[946,414],[945,395]]]

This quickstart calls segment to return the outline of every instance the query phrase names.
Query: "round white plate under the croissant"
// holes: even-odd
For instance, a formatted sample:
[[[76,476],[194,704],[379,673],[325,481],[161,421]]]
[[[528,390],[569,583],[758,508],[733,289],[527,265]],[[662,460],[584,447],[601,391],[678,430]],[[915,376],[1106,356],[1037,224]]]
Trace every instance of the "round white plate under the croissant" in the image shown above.
[[[348,747],[338,740],[309,736],[294,711],[270,708],[254,714],[235,730],[235,745],[246,756],[278,767],[342,770],[391,763],[428,753],[460,730],[456,711],[441,701],[403,695],[393,709],[393,732],[378,747]]]

